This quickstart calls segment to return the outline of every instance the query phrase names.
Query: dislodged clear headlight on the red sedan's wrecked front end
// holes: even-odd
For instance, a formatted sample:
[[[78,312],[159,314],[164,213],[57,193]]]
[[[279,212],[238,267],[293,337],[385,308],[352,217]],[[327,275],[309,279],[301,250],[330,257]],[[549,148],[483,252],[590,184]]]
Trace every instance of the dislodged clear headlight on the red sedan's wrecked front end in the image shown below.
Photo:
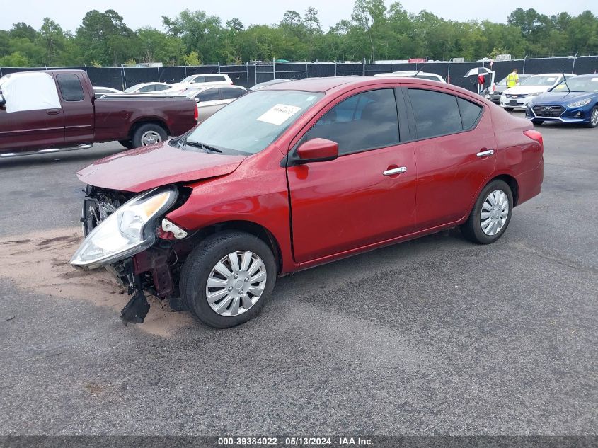
[[[71,265],[93,269],[109,265],[149,248],[156,241],[156,217],[178,196],[175,187],[155,188],[132,198],[88,234],[71,258]]]

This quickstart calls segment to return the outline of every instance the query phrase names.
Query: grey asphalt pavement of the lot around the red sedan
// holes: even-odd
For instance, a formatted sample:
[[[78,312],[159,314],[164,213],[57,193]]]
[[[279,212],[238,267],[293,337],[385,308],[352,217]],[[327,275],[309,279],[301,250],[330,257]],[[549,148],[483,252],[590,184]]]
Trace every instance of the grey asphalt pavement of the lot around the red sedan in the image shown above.
[[[236,328],[164,338],[0,278],[0,434],[597,434],[598,129],[539,130],[542,193],[498,243],[299,272]],[[0,236],[79,225],[76,170],[121,150],[0,160]]]

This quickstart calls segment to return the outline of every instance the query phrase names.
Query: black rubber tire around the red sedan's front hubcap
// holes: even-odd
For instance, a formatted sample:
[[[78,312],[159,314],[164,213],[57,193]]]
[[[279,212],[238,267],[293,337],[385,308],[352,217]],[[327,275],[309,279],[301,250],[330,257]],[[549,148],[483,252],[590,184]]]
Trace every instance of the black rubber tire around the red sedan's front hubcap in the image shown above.
[[[236,316],[222,316],[209,305],[206,297],[207,280],[222,258],[235,251],[251,251],[263,261],[266,283],[253,306]],[[187,257],[180,272],[179,289],[185,307],[200,321],[214,328],[229,328],[255,317],[274,289],[277,277],[272,251],[257,236],[242,231],[222,231],[208,236]],[[224,301],[224,299],[223,299]]]

